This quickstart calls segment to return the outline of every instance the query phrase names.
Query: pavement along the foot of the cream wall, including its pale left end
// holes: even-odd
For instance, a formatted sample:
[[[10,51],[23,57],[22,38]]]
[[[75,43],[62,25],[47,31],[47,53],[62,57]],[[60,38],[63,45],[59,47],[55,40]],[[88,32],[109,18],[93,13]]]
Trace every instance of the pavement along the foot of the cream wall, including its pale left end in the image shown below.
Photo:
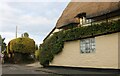
[[[72,67],[59,67],[50,66],[43,68],[39,62],[33,64],[27,64],[28,67],[34,67],[36,71],[43,71],[55,74],[116,74],[116,70],[96,70],[96,69],[83,69],[83,68],[72,68]]]

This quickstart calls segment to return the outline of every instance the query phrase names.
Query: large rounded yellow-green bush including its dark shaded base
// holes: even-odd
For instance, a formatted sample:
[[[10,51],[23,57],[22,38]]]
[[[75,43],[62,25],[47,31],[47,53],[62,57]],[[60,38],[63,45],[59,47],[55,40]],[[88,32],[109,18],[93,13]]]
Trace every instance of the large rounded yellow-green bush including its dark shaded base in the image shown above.
[[[35,41],[24,37],[11,40],[7,46],[7,53],[11,55],[12,63],[30,63],[34,59],[31,57],[35,52]]]

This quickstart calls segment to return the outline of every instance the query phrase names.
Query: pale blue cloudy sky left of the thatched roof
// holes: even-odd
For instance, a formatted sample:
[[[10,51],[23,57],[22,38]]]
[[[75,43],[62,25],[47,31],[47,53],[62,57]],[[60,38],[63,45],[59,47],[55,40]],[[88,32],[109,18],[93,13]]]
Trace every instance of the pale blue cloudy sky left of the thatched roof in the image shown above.
[[[69,0],[4,0],[0,2],[0,35],[5,42],[27,32],[36,44],[55,27]]]

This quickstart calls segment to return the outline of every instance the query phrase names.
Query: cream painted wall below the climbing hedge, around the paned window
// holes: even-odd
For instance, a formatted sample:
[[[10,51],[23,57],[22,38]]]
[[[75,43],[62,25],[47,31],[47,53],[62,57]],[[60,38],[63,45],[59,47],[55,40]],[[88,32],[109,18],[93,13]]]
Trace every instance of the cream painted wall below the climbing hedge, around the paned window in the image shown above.
[[[118,69],[118,33],[95,37],[95,53],[80,53],[80,40],[65,42],[50,65]]]

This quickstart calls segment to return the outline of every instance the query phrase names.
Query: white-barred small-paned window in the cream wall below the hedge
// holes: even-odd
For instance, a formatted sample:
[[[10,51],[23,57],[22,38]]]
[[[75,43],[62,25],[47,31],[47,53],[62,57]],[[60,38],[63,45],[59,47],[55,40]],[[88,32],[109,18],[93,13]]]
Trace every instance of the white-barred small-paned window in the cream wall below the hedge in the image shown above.
[[[92,53],[95,51],[95,38],[80,40],[81,53]]]

